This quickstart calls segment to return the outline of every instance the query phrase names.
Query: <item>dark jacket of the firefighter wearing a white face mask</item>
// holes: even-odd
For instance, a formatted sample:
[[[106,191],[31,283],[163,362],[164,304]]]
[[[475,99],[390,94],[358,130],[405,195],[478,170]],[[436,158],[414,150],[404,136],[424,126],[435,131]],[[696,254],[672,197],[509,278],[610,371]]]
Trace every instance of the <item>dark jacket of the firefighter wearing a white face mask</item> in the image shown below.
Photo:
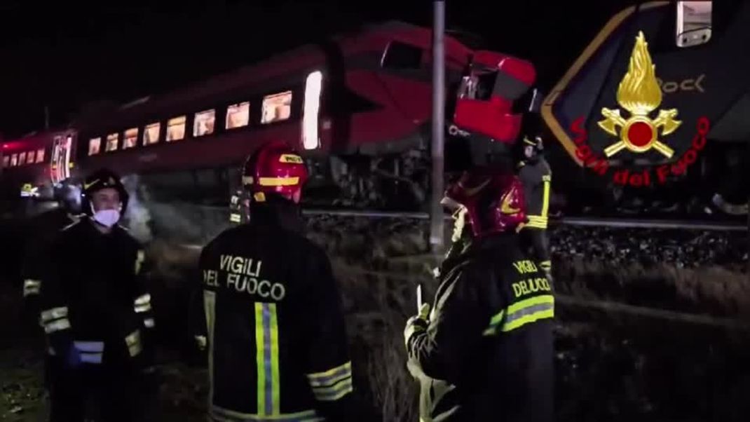
[[[102,234],[89,217],[52,243],[40,322],[54,355],[71,365],[151,364],[151,295],[145,254],[121,226]]]

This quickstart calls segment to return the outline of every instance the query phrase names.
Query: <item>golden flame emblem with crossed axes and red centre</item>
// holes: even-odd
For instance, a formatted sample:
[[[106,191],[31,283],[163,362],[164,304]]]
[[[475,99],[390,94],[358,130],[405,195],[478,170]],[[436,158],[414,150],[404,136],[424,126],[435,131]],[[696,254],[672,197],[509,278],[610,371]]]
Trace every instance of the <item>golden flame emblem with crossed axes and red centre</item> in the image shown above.
[[[599,127],[613,136],[619,136],[618,142],[604,148],[607,157],[624,148],[637,153],[654,148],[667,158],[672,157],[673,149],[658,140],[658,130],[661,128],[662,136],[668,135],[682,122],[674,119],[677,109],[659,110],[655,119],[649,118],[649,113],[661,104],[661,88],[656,82],[655,64],[651,61],[648,43],[642,31],[638,31],[635,37],[628,73],[619,82],[617,103],[628,110],[631,116],[623,118],[619,109],[601,109],[604,120],[598,121]]]

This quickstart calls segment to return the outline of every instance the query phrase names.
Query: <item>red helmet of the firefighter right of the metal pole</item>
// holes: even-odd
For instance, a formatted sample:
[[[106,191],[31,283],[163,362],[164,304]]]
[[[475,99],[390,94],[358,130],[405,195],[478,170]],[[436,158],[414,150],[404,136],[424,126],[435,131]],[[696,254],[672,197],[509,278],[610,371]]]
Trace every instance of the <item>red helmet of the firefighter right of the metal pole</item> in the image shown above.
[[[526,223],[523,185],[516,175],[493,169],[464,172],[449,186],[446,197],[466,208],[476,238],[514,232]]]

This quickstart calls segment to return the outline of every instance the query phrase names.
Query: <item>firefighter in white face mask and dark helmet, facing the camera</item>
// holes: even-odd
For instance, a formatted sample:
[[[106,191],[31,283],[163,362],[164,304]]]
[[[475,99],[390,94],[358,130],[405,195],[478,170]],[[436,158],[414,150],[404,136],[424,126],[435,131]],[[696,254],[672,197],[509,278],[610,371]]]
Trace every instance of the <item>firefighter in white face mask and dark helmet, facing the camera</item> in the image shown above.
[[[50,421],[143,421],[154,317],[145,254],[118,225],[128,195],[107,169],[83,183],[86,214],[52,243],[40,321],[61,362],[50,379]],[[94,409],[89,409],[91,403]]]

